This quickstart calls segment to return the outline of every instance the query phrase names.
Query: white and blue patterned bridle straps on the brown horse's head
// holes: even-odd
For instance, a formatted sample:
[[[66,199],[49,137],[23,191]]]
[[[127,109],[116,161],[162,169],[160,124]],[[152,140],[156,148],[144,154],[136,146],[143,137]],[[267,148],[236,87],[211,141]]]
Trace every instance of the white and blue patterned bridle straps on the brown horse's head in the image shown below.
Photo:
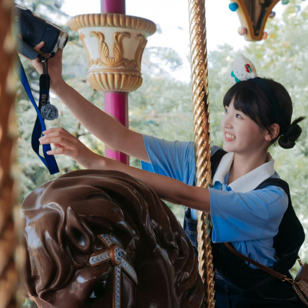
[[[109,235],[101,234],[98,237],[103,241],[107,248],[91,254],[89,263],[91,266],[97,266],[104,262],[111,261],[111,264],[114,265],[113,308],[120,308],[122,271],[125,271],[125,273],[128,274],[128,276],[136,285],[138,285],[137,275],[132,265],[130,265],[128,261],[124,259],[123,249],[115,245]]]

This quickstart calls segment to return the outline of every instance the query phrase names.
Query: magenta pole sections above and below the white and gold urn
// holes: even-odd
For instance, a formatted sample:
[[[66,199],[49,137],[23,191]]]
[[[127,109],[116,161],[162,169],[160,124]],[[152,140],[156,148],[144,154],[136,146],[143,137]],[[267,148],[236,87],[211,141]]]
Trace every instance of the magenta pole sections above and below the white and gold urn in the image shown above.
[[[125,14],[125,0],[101,0],[102,13]],[[128,93],[105,92],[105,111],[128,128]],[[129,164],[129,156],[106,147],[106,156]]]

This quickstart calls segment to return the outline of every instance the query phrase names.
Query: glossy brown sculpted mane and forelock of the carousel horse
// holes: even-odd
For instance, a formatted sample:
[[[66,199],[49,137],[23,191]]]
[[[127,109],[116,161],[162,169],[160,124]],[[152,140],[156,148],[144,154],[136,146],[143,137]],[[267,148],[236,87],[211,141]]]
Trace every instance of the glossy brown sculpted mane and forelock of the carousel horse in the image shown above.
[[[73,265],[86,265],[84,256],[93,253],[97,235],[112,233],[121,239],[133,265],[141,249],[164,249],[174,268],[181,307],[203,299],[193,246],[168,206],[140,180],[117,171],[68,172],[30,193],[21,213],[29,252],[22,279],[31,297],[43,299],[61,289],[74,274]],[[76,224],[87,239],[76,239],[69,231]]]

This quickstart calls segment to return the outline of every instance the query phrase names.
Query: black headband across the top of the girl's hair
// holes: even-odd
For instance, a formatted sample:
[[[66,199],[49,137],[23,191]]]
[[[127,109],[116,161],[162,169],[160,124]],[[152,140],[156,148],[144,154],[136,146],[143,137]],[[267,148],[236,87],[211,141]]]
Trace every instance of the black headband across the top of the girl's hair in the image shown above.
[[[251,78],[249,80],[257,83],[262,88],[262,90],[266,93],[270,101],[270,104],[274,108],[275,123],[279,124],[282,135],[285,134],[288,128],[286,124],[282,122],[282,119],[283,119],[282,111],[281,111],[281,107],[279,105],[278,97],[275,91],[273,90],[273,88],[270,86],[268,82],[266,82],[264,79],[260,77]]]

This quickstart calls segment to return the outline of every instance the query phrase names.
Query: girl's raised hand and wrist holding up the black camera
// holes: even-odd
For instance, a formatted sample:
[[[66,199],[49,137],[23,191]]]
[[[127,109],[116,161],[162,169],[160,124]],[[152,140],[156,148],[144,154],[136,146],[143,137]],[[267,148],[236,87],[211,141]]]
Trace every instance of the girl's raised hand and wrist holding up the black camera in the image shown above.
[[[22,39],[21,35],[18,34]],[[34,49],[38,52],[41,52],[41,49],[44,46],[44,42],[37,44]],[[50,77],[50,87],[51,89],[55,88],[58,84],[63,82],[62,78],[62,54],[63,49],[58,49],[55,56],[48,60],[48,74]],[[43,74],[42,63],[39,62],[39,58],[35,58],[34,60],[30,60],[22,55],[25,59],[27,59],[34,68],[38,71],[39,74]]]

